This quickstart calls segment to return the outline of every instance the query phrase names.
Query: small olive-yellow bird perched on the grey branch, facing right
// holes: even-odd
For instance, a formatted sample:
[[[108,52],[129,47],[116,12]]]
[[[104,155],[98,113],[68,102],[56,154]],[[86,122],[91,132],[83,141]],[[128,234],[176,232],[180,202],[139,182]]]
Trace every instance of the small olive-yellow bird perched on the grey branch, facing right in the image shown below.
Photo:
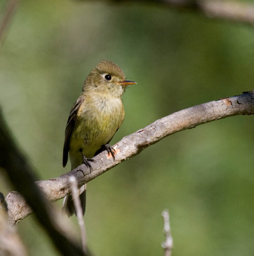
[[[108,145],[124,120],[123,100],[126,86],[136,84],[125,79],[123,70],[112,61],[101,61],[86,77],[82,92],[70,111],[65,129],[63,166],[68,154],[71,170],[84,163],[92,170],[92,157],[107,150],[115,159],[114,149]],[[86,184],[79,189],[83,214],[86,211]],[[68,216],[75,213],[71,195],[64,198],[63,210]]]

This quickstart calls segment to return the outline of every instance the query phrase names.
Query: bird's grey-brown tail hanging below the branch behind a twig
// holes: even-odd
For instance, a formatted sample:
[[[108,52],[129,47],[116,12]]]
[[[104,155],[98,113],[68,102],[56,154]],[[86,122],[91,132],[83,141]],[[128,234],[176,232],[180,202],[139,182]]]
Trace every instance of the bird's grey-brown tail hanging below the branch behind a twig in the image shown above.
[[[84,216],[86,212],[86,184],[84,184],[82,187],[80,187],[80,189],[78,189],[78,193]],[[74,213],[76,214],[71,194],[68,194],[64,197],[62,211],[66,212],[68,217],[72,216]]]

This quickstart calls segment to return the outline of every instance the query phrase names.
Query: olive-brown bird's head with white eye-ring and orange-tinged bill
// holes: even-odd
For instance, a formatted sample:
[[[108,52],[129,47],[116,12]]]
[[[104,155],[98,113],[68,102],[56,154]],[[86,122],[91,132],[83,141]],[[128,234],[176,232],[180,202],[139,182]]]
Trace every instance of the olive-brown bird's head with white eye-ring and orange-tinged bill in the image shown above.
[[[110,93],[112,97],[121,97],[129,84],[136,84],[125,79],[123,70],[112,61],[101,61],[87,76],[84,92]]]

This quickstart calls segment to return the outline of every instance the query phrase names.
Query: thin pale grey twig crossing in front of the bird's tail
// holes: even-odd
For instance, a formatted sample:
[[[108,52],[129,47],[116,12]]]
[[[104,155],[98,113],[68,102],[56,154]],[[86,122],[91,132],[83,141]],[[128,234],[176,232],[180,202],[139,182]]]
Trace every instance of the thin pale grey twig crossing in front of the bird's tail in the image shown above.
[[[85,226],[85,222],[84,222],[84,218],[83,218],[83,211],[82,211],[82,207],[81,207],[80,198],[78,195],[78,182],[74,176],[69,177],[68,180],[70,183],[72,200],[73,200],[74,207],[76,210],[75,212],[77,214],[78,226],[80,228],[82,248],[83,248],[84,252],[86,252],[86,250],[87,250],[87,248],[86,248],[86,241],[87,241],[86,226]]]

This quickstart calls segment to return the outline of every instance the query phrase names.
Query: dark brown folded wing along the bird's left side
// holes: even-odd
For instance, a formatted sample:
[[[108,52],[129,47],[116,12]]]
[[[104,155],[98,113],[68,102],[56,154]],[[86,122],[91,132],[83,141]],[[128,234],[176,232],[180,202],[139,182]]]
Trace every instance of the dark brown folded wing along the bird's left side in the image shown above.
[[[82,102],[84,102],[84,97],[78,97],[77,101],[71,108],[70,115],[67,121],[66,129],[65,129],[64,148],[63,148],[63,167],[66,166],[68,161],[68,152],[70,150],[71,134],[75,127],[77,116],[78,116],[78,109],[80,108]]]

